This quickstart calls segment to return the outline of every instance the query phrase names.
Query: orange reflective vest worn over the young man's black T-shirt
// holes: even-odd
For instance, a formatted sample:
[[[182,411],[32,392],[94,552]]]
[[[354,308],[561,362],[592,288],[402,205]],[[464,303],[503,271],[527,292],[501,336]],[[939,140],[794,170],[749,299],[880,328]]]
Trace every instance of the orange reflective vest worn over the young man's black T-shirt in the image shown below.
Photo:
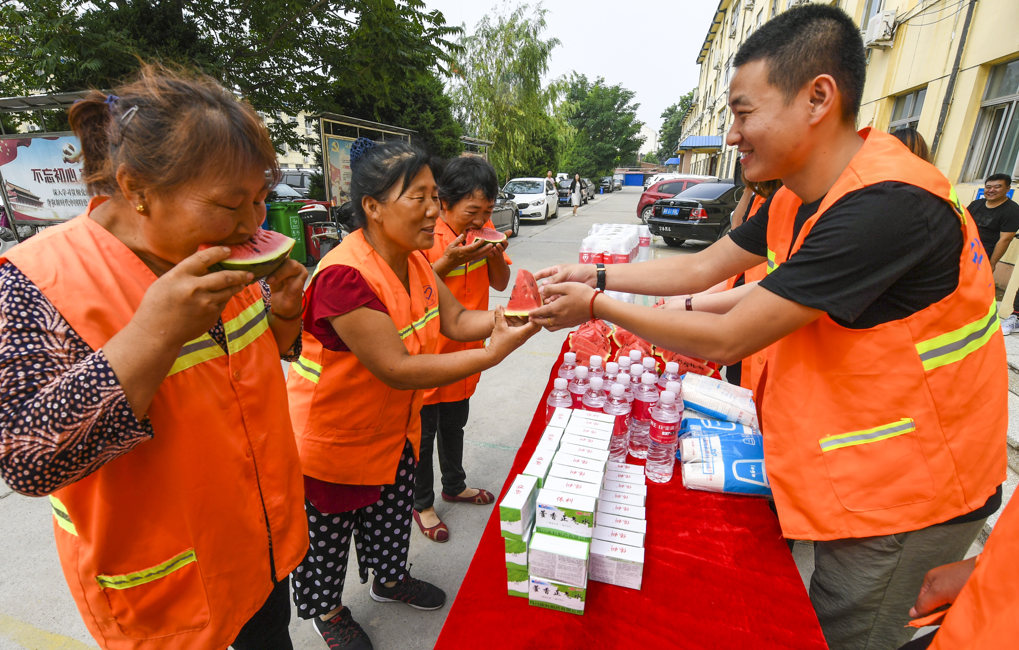
[[[899,181],[959,215],[959,285],[902,320],[848,329],[824,314],[774,344],[758,409],[779,519],[794,539],[917,530],[980,507],[1005,480],[1005,343],[976,225],[933,165],[893,136],[860,136],[863,147],[795,241],[801,202],[786,187],[774,195],[769,269],[841,197]]]

